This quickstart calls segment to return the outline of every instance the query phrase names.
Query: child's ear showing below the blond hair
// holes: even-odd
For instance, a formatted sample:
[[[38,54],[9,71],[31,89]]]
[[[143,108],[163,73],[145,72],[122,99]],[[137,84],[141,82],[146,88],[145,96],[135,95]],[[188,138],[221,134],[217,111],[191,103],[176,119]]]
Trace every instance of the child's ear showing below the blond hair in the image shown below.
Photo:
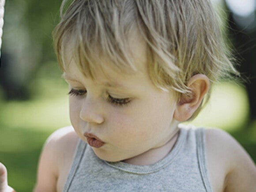
[[[182,94],[180,101],[174,112],[174,119],[178,121],[188,120],[196,109],[200,106],[203,96],[207,94],[210,88],[210,81],[206,75],[197,74],[189,79],[187,85],[192,93],[189,95]]]

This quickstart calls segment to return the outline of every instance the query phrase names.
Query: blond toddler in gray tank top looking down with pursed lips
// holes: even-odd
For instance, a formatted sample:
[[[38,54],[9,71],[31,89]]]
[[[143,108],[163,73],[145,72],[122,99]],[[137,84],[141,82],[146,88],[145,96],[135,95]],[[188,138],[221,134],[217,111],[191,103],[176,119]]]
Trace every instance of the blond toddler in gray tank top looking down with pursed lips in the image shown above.
[[[35,192],[256,192],[226,132],[181,122],[239,75],[210,0],[73,0],[53,31],[72,126],[41,153]]]

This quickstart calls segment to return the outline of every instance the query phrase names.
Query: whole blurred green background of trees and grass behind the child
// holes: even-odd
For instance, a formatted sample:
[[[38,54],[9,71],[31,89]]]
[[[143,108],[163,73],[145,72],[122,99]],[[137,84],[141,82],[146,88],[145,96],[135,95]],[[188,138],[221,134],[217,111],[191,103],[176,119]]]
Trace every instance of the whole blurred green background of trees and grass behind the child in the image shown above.
[[[5,5],[0,68],[0,162],[7,166],[9,184],[18,192],[32,191],[45,139],[54,130],[70,125],[68,85],[60,78],[51,37],[59,21],[60,3],[61,0],[7,0]],[[215,3],[224,10],[229,8],[223,2]],[[229,14],[222,12],[226,25],[228,18]],[[242,33],[254,35],[251,28]],[[252,84],[253,80],[249,80]],[[256,118],[250,112],[255,105],[248,95],[247,84],[218,83],[207,107],[189,123],[226,130],[256,162]]]

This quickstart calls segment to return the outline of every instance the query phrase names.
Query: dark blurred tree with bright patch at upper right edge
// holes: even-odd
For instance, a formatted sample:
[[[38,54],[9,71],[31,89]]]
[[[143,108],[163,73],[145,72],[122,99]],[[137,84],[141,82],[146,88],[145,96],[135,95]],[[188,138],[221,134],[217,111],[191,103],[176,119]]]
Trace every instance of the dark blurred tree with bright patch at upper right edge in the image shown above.
[[[248,78],[245,84],[249,105],[249,120],[256,120],[256,1],[225,0],[228,32],[239,60],[239,71]]]

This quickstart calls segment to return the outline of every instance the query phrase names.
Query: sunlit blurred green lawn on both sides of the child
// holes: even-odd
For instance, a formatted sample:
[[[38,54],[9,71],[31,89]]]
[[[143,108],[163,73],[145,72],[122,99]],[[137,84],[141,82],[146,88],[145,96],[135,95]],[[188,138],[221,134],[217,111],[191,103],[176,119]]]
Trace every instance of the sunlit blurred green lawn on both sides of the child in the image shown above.
[[[38,79],[34,85],[36,94],[30,101],[0,100],[0,162],[7,166],[9,184],[18,192],[32,191],[45,139],[70,124],[63,81]],[[225,129],[256,161],[256,121],[244,127],[248,117],[245,89],[222,83],[214,87],[212,96],[209,105],[190,123]]]

